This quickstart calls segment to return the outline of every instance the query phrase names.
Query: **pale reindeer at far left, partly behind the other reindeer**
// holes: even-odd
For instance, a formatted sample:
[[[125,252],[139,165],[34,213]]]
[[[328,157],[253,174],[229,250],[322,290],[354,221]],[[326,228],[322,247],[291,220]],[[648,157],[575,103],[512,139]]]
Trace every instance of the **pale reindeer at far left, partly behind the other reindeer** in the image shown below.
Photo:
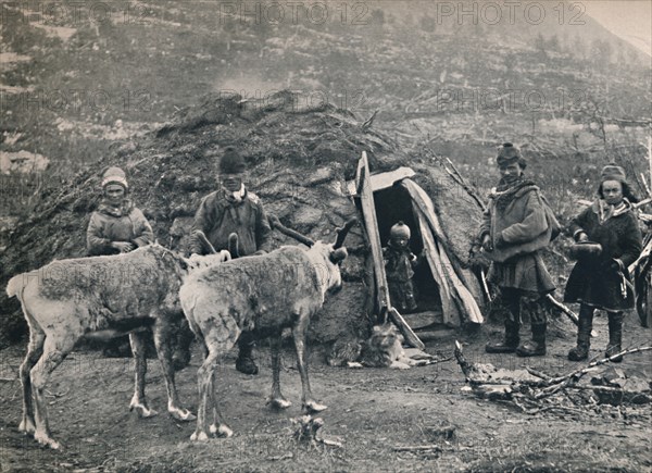
[[[9,297],[16,296],[29,325],[27,356],[21,365],[23,419],[18,430],[34,434],[53,449],[60,444],[50,434],[46,385],[52,372],[88,334],[115,336],[129,333],[136,359],[130,410],[141,418],[156,414],[145,397],[147,360],[141,339],[151,327],[167,388],[167,411],[179,421],[195,415],[180,407],[172,366],[173,323],[183,316],[178,290],[190,271],[229,260],[228,251],[185,259],[159,245],[136,251],[93,258],[53,261],[12,277]]]

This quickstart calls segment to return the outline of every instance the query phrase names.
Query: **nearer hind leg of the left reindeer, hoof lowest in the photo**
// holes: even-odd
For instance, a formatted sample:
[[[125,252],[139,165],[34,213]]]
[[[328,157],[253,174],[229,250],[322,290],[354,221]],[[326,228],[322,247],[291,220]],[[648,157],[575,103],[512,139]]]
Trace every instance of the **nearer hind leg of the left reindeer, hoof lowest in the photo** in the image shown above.
[[[79,338],[79,334],[73,333],[70,331],[70,327],[63,326],[61,329],[63,332],[61,334],[50,333],[47,335],[43,345],[43,354],[30,373],[36,408],[36,431],[34,432],[34,438],[39,444],[49,446],[53,449],[59,449],[61,446],[58,441],[52,439],[50,434],[48,409],[43,391],[52,372],[61,364],[67,353],[71,352],[75,341]]]

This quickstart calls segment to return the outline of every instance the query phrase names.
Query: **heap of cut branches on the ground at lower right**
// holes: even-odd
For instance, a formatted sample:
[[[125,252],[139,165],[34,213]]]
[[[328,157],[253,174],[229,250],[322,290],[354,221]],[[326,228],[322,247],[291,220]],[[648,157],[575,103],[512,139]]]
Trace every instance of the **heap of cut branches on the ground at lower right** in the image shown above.
[[[618,382],[626,378],[622,372],[616,373],[616,376],[593,377],[591,384],[579,383],[587,373],[597,372],[598,366],[617,357],[649,350],[652,347],[628,348],[565,375],[550,376],[530,368],[504,370],[490,363],[469,363],[462,352],[461,344],[455,341],[455,359],[466,376],[468,390],[481,398],[512,402],[528,414],[553,410],[586,413],[587,407],[600,403],[650,403],[650,382],[640,378],[632,378],[629,383]]]

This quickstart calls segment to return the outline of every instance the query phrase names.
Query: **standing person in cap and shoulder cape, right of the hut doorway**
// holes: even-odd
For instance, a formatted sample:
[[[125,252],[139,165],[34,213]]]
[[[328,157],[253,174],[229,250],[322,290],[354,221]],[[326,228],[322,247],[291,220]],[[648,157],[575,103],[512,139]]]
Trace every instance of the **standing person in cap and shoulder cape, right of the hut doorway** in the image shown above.
[[[554,284],[540,250],[550,244],[552,227],[539,188],[523,174],[526,161],[518,148],[502,145],[497,164],[501,179],[489,195],[479,239],[492,261],[488,278],[500,287],[509,315],[504,340],[487,344],[486,351],[542,356],[547,327],[542,299]],[[529,312],[532,339],[519,345],[522,306]]]

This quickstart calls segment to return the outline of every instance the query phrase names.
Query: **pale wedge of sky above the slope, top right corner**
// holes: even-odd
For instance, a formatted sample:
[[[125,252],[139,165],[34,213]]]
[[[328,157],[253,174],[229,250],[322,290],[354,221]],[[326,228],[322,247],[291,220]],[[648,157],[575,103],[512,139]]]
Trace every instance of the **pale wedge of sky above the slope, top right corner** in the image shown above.
[[[584,0],[586,12],[606,29],[652,57],[652,0]]]

